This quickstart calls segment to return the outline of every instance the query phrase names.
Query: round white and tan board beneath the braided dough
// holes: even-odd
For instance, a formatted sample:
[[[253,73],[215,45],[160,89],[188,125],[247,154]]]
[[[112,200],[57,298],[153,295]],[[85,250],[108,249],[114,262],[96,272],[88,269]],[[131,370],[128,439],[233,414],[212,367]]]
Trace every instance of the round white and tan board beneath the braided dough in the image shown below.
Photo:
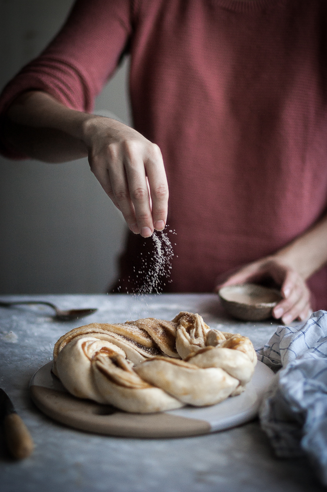
[[[185,437],[221,431],[252,420],[274,373],[256,365],[246,390],[206,407],[186,406],[154,414],[126,413],[110,405],[76,398],[51,372],[52,362],[38,369],[30,381],[30,395],[49,417],[83,431],[126,437]]]

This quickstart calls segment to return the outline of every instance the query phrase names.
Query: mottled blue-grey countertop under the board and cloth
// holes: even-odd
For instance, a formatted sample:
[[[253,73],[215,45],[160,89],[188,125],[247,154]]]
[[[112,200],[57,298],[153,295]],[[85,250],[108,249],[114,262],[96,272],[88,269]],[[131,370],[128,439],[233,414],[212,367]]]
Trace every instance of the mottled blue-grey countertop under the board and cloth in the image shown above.
[[[198,312],[211,328],[248,336],[262,346],[278,324],[238,322],[214,294],[149,296],[0,296],[43,300],[60,308],[98,307],[87,318],[59,322],[45,306],[0,307],[0,387],[30,429],[34,453],[11,460],[0,447],[3,492],[315,492],[326,491],[305,459],[277,459],[257,420],[204,436],[134,439],[90,434],[64,427],[31,402],[33,373],[52,360],[57,339],[91,322],[124,322],[153,316],[172,319],[180,310]]]

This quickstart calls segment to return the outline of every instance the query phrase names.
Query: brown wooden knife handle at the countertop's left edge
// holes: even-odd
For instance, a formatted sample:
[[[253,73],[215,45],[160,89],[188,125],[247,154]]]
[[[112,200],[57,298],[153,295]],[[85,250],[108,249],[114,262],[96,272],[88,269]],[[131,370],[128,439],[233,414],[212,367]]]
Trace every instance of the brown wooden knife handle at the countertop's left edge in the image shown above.
[[[4,435],[14,458],[21,460],[30,456],[34,449],[33,439],[20,416],[14,412],[4,417]]]

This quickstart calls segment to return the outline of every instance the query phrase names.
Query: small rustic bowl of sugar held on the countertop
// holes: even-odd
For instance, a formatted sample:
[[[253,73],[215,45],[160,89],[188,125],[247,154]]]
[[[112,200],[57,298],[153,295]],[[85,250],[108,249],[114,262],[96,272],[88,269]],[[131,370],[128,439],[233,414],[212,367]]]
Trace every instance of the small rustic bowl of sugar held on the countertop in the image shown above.
[[[282,299],[278,290],[254,283],[222,287],[218,295],[229,314],[245,321],[269,318],[273,307]]]

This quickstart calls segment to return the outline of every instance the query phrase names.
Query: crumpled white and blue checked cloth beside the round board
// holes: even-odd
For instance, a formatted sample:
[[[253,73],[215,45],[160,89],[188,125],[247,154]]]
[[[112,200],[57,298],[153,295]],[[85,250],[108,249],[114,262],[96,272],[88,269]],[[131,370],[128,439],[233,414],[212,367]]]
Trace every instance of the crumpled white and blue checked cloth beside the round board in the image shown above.
[[[327,485],[327,311],[294,327],[279,326],[257,355],[283,368],[260,410],[277,456],[307,455]]]

